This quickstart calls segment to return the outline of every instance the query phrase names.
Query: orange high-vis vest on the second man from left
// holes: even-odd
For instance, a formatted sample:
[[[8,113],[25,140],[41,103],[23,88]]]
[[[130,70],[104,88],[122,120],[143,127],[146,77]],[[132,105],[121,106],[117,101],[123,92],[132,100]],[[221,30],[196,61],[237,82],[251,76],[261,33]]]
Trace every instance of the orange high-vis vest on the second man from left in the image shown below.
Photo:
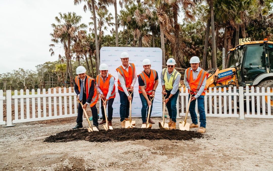
[[[99,85],[100,89],[102,90],[102,93],[103,93],[103,95],[105,97],[108,94],[109,83],[110,83],[111,77],[114,77],[114,76],[112,76],[111,74],[108,73],[108,77],[105,79],[105,82],[103,82],[101,74],[97,75],[97,83],[98,83],[98,85]],[[115,77],[114,77],[114,80],[115,80]],[[115,98],[115,97],[116,97],[116,87],[115,87],[115,84],[114,84],[114,88],[113,88],[113,91],[111,92],[111,96],[109,97],[109,99],[110,98]]]

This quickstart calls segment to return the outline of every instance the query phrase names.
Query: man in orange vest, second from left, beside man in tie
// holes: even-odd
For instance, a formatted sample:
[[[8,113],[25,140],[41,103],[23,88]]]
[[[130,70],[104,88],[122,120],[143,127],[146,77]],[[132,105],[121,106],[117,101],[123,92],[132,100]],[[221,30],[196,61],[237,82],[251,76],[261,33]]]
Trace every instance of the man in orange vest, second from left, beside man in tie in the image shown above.
[[[97,75],[97,90],[104,100],[104,103],[101,100],[102,121],[99,124],[106,123],[103,105],[105,107],[106,105],[108,105],[108,125],[112,126],[112,105],[114,102],[114,98],[116,97],[115,77],[108,73],[108,65],[106,63],[101,63],[99,70],[100,74]]]

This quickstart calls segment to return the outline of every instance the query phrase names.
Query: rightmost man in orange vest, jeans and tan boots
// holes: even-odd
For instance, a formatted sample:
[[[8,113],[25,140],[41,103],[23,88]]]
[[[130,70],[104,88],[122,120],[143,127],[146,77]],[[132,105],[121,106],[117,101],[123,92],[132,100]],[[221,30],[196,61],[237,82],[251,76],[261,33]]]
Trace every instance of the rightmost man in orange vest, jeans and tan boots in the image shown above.
[[[199,110],[199,121],[200,128],[197,132],[206,132],[206,113],[204,109],[204,95],[206,94],[206,81],[209,74],[199,67],[200,60],[197,56],[193,56],[190,59],[191,67],[186,69],[184,75],[184,84],[189,89],[189,91],[194,92],[194,96],[191,97],[191,103],[189,106],[189,112],[191,114],[192,124],[190,128],[198,128],[197,115],[195,112],[196,99],[198,102]]]

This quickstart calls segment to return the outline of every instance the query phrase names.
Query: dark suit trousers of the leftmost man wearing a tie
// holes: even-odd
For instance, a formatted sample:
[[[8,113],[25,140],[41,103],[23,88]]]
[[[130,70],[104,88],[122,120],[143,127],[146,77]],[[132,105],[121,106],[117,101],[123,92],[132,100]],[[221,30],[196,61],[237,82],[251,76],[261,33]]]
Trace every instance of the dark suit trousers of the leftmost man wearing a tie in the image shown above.
[[[83,97],[82,97],[82,104],[84,105],[86,103],[86,94],[84,93],[83,94]],[[89,105],[87,105],[89,106]],[[91,112],[92,112],[92,116],[93,116],[93,125],[94,126],[99,126],[99,123],[98,123],[98,109],[96,107],[96,105],[94,105],[93,107],[91,107]],[[77,124],[79,125],[82,125],[82,114],[83,114],[83,109],[82,109],[82,106],[81,104],[78,105],[78,117],[77,117]],[[89,118],[87,118],[89,119]]]

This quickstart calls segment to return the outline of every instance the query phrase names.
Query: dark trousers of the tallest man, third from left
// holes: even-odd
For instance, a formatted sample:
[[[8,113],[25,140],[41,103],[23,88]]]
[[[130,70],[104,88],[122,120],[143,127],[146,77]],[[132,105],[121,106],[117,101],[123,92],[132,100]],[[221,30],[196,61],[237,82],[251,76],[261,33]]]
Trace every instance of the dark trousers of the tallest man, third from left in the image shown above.
[[[118,94],[120,95],[120,121],[122,122],[125,118],[129,118],[130,102],[125,92],[118,90]],[[134,93],[132,93],[132,99],[133,95]]]

